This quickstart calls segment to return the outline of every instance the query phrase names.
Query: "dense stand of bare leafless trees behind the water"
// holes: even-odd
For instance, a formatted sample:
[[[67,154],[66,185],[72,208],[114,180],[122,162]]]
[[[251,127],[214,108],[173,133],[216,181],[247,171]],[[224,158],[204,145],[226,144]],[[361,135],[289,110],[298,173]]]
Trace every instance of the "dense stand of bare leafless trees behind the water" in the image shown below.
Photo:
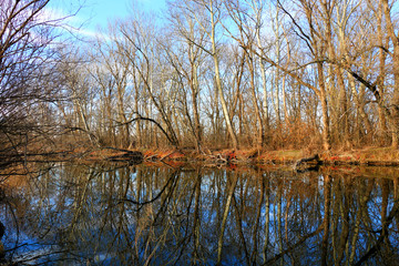
[[[3,155],[398,149],[395,0],[171,0],[95,38],[49,1],[0,2]]]

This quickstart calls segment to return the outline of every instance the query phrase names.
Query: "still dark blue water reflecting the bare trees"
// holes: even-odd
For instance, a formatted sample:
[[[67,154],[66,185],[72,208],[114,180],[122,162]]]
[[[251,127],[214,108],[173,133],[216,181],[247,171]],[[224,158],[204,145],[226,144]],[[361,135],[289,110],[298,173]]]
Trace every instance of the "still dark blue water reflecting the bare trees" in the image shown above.
[[[399,265],[397,168],[55,164],[1,193],[7,264]]]

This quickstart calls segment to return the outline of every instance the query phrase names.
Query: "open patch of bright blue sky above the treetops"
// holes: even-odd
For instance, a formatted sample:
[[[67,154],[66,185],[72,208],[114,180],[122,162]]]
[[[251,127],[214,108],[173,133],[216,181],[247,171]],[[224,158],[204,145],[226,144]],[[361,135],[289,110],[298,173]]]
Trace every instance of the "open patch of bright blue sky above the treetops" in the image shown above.
[[[73,27],[82,25],[81,33],[94,34],[99,27],[106,28],[110,20],[125,18],[132,9],[160,12],[166,0],[53,0],[48,6],[55,17],[79,12],[69,19]]]

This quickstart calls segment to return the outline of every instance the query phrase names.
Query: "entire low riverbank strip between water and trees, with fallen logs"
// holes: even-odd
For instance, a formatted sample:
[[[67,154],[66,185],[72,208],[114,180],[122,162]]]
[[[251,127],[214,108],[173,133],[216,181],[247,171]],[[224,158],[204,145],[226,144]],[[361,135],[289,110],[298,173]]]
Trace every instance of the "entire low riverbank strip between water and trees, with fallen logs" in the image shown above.
[[[370,165],[399,166],[399,151],[391,147],[368,147],[351,151],[313,151],[306,150],[205,150],[196,152],[188,149],[165,150],[124,150],[115,147],[79,149],[49,153],[27,153],[1,157],[1,165],[21,162],[168,162],[221,164],[267,164],[290,165]]]

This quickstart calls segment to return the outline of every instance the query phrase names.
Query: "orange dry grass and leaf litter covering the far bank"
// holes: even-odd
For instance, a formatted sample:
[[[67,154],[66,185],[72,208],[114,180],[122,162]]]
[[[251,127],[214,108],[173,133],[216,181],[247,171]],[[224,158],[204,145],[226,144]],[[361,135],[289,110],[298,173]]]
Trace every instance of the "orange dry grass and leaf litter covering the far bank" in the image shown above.
[[[59,156],[59,160],[71,161],[103,161],[113,156],[122,156],[134,150],[113,150],[95,149],[84,150],[76,149]],[[143,150],[144,161],[191,161],[191,162],[215,162],[221,163],[273,163],[289,164],[298,160],[310,157],[318,154],[325,164],[375,164],[375,165],[399,165],[399,151],[391,147],[367,147],[352,151],[313,151],[307,150],[279,150],[267,151],[258,149],[247,150],[204,150],[196,152],[188,149],[164,149],[164,150]],[[129,157],[129,156],[127,156]],[[37,160],[54,160],[55,156],[40,156]]]

